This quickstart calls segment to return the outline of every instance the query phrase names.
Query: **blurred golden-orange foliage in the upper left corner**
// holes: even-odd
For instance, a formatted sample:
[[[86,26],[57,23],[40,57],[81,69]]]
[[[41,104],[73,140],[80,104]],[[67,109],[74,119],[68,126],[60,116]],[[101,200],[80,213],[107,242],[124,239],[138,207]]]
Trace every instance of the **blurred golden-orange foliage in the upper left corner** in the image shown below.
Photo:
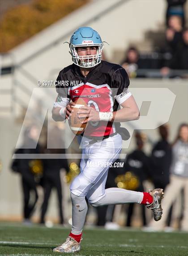
[[[33,0],[7,11],[0,21],[0,52],[4,53],[48,27],[88,0]]]

